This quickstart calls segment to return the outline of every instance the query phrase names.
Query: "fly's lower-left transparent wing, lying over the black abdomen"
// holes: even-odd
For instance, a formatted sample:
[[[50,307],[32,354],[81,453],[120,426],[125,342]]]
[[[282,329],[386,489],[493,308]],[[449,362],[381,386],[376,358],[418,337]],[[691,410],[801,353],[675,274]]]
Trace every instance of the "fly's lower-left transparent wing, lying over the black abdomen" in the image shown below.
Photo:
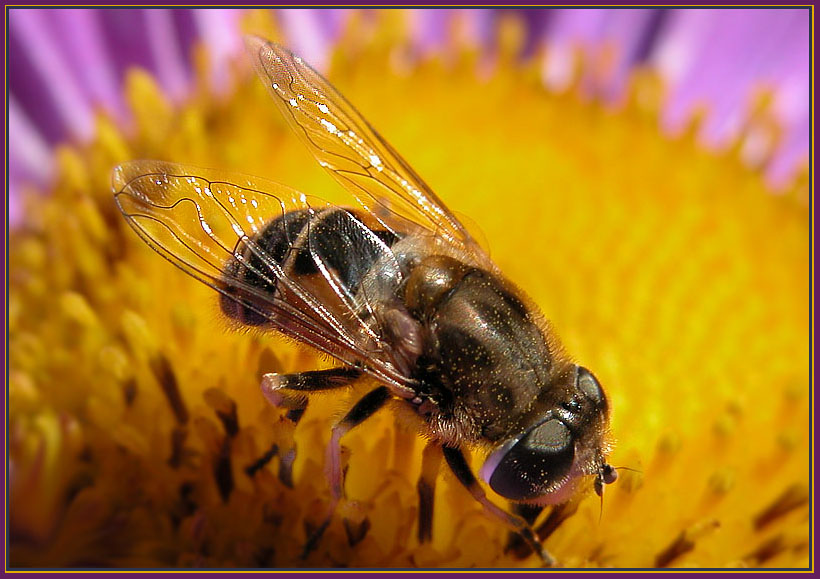
[[[161,161],[120,165],[113,186],[137,234],[220,292],[223,309],[236,304],[257,325],[272,326],[362,367],[388,385],[407,386],[409,380],[396,371],[373,325],[370,304],[344,279],[350,270],[333,261],[350,249],[353,259],[365,256],[368,263],[391,267],[392,253],[372,225],[277,183]],[[323,247],[328,236],[322,227],[338,230],[339,223],[344,236],[334,238],[335,246]],[[280,224],[279,229],[271,224]]]

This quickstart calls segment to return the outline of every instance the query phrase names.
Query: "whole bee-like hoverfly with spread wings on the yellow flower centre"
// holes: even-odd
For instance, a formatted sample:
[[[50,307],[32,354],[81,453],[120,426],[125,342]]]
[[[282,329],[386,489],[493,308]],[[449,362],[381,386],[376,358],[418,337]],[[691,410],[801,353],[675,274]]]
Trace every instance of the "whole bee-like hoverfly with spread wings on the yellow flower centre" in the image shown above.
[[[246,46],[279,111],[349,193],[349,206],[248,176],[133,161],[113,173],[120,210],[149,246],[219,292],[229,318],[338,360],[336,368],[262,377],[265,397],[292,422],[311,392],[365,377],[377,384],[332,427],[332,498],[321,529],[343,496],[342,436],[396,400],[420,418],[428,441],[420,540],[431,536],[443,456],[490,516],[553,564],[527,520],[492,502],[479,478],[522,512],[565,502],[587,476],[601,495],[617,477],[606,461],[601,384],[327,80],[282,46],[258,37]],[[486,455],[478,477],[468,452]]]

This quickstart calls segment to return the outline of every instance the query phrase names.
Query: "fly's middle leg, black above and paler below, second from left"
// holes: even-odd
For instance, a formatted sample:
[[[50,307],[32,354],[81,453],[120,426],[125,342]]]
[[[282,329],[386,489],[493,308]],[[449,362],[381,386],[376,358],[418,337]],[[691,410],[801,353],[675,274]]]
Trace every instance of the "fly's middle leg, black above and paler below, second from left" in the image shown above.
[[[322,535],[330,525],[336,505],[344,494],[344,472],[342,471],[342,436],[347,434],[354,427],[358,426],[381,409],[390,400],[390,390],[386,386],[379,386],[371,390],[359,400],[353,408],[333,426],[330,435],[330,442],[327,445],[325,454],[325,475],[330,483],[331,500],[328,506],[327,517],[318,529],[308,538],[305,548],[302,551],[302,558],[316,548]]]

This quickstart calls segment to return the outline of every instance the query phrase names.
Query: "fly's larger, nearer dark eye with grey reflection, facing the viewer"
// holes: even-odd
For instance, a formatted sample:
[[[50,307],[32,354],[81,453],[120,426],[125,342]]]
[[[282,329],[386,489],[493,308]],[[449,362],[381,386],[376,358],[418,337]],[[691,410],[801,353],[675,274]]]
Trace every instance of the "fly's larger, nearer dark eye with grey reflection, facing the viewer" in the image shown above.
[[[536,425],[521,439],[491,454],[482,468],[490,487],[514,501],[543,497],[555,490],[572,466],[575,445],[560,420]]]

